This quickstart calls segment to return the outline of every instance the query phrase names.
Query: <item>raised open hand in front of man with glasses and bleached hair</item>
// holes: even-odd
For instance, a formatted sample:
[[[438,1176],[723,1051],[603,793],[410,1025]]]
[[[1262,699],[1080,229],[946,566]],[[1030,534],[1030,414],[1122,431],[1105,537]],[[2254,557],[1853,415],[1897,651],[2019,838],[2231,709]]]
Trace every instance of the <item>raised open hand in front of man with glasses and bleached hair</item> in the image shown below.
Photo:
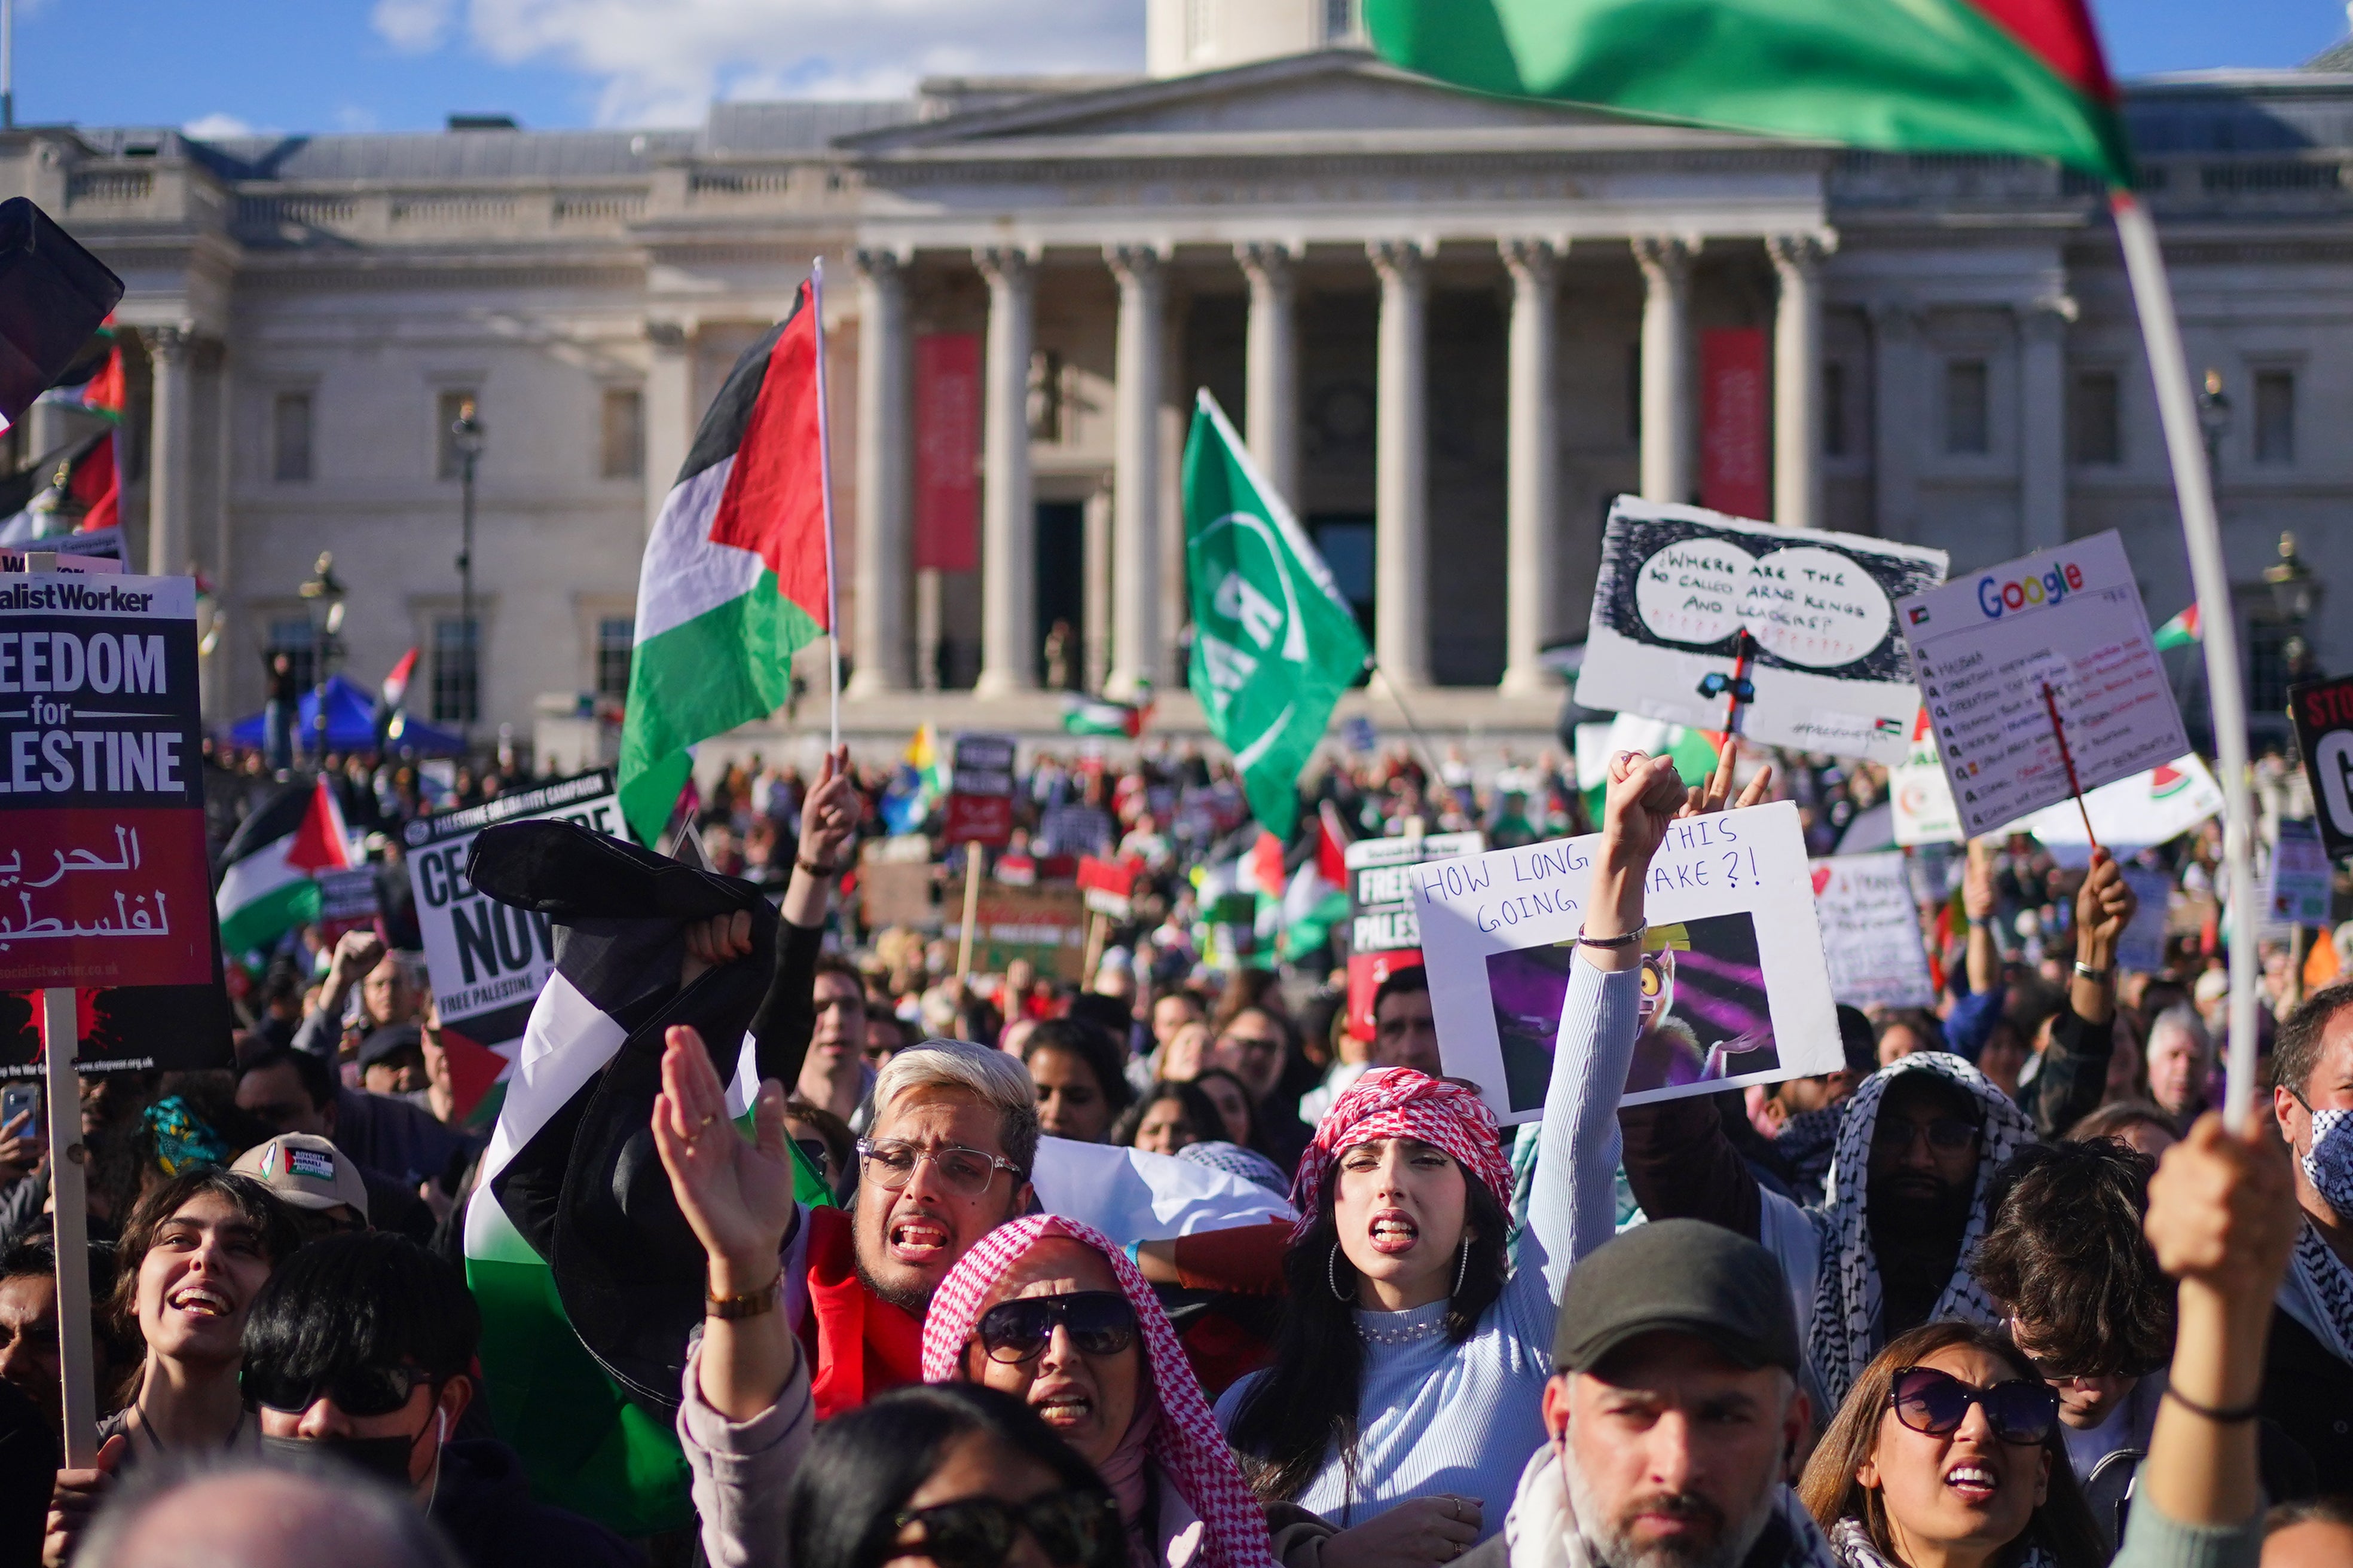
[[[701,1034],[673,1027],[664,1037],[661,1093],[654,1095],[654,1150],[671,1173],[680,1213],[704,1244],[711,1293],[744,1295],[774,1284],[793,1225],[784,1084],[760,1084],[753,1143],[744,1143],[727,1121],[727,1088]]]

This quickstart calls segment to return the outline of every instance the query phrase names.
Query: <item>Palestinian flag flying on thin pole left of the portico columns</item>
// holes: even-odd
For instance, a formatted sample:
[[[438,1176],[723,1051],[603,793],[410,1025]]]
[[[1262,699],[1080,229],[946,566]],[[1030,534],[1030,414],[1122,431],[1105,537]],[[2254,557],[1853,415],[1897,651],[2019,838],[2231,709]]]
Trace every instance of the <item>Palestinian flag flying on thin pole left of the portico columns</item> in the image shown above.
[[[784,708],[833,628],[824,324],[809,284],[711,400],[638,569],[621,816],[659,844],[694,745]]]

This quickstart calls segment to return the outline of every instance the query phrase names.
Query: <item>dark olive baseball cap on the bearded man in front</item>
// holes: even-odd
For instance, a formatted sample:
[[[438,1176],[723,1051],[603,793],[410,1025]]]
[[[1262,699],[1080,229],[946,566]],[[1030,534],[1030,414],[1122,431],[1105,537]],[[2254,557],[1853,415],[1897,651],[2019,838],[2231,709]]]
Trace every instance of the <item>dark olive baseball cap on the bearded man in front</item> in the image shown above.
[[[1781,1265],[1706,1220],[1654,1220],[1569,1269],[1553,1326],[1553,1371],[1588,1373],[1645,1333],[1689,1333],[1741,1366],[1798,1373],[1798,1314]]]

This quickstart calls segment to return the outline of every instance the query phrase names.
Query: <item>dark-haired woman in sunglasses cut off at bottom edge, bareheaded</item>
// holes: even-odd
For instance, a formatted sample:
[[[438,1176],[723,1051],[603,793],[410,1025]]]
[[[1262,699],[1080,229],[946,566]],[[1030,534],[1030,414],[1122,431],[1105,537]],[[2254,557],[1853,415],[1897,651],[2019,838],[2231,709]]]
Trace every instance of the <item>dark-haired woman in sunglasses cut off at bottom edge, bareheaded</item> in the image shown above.
[[[793,1568],[1122,1563],[1101,1479],[1019,1399],[969,1385],[892,1389],[821,1425],[781,1535]]]

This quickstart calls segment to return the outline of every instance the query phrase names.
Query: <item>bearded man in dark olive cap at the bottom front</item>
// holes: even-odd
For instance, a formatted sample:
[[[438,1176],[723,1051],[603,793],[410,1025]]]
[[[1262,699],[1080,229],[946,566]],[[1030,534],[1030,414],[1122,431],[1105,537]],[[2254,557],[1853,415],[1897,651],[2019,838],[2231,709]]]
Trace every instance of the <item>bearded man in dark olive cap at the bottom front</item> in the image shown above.
[[[1835,1568],[1788,1488],[1812,1422],[1781,1265],[1701,1220],[1640,1225],[1560,1295],[1551,1441],[1457,1568]]]

